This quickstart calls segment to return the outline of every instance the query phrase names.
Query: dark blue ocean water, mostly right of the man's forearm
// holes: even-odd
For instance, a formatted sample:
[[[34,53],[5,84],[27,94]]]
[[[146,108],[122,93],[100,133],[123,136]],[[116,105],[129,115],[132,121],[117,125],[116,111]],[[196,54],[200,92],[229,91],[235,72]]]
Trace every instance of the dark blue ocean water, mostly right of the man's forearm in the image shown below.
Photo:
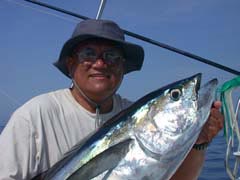
[[[0,133],[5,123],[0,121]],[[206,161],[199,177],[199,180],[227,180],[230,179],[224,167],[224,158],[226,153],[226,141],[223,132],[209,145]],[[233,163],[233,160],[231,161]]]

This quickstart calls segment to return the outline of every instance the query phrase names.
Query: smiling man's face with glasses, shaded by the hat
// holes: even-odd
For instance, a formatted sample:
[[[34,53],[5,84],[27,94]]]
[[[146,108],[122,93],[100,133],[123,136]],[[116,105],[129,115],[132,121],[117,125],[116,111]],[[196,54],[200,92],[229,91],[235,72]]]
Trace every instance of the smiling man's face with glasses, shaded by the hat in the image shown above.
[[[72,78],[85,95],[101,102],[112,95],[123,78],[123,53],[105,40],[80,43],[68,61]]]

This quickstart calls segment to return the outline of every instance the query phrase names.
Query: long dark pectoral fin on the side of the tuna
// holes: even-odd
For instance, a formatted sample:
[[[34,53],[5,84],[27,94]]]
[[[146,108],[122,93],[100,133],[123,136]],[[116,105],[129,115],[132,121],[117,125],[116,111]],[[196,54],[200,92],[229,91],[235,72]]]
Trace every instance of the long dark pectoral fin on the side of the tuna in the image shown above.
[[[88,180],[107,170],[111,172],[128,153],[132,141],[132,139],[126,139],[108,148],[75,171],[69,178]],[[104,178],[107,179],[108,176],[107,172]]]

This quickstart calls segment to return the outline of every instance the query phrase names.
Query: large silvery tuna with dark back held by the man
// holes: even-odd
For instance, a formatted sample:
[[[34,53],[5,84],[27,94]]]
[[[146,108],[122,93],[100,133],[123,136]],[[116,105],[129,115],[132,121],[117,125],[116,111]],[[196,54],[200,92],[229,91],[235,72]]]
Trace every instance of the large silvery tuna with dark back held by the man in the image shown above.
[[[167,180],[196,142],[217,79],[201,73],[159,88],[106,121],[42,176],[53,180]]]

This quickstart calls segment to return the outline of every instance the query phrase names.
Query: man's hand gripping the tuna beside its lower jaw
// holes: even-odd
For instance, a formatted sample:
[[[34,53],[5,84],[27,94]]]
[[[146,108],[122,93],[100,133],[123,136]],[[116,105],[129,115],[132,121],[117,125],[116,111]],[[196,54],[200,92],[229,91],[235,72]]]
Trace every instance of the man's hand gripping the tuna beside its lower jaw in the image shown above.
[[[196,141],[196,144],[211,142],[212,139],[223,128],[224,118],[221,112],[219,111],[220,107],[221,107],[220,101],[215,101],[213,103],[208,120],[203,126],[203,129]]]

